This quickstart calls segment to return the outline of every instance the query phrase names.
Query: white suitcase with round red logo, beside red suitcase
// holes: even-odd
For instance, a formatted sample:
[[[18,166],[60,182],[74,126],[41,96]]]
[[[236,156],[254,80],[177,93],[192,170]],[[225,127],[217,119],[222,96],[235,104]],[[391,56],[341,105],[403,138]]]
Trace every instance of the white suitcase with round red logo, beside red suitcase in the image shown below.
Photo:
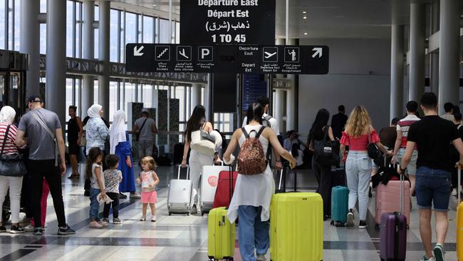
[[[201,196],[199,197],[199,210],[201,215],[209,213],[214,203],[215,190],[217,190],[217,182],[219,181],[219,173],[222,170],[229,170],[229,166],[204,166],[202,167],[201,177]]]

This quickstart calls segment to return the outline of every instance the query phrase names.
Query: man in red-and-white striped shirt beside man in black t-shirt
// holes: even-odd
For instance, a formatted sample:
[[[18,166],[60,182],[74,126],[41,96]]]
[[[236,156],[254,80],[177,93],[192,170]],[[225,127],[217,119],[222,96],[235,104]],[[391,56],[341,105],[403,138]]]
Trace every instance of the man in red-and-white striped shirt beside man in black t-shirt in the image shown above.
[[[402,162],[403,155],[405,154],[405,148],[407,147],[408,129],[413,123],[420,121],[420,118],[416,116],[418,110],[418,103],[416,101],[409,101],[407,103],[407,116],[402,118],[397,123],[397,139],[395,140],[394,155],[392,156],[392,162]],[[407,174],[410,178],[410,194],[415,193],[415,174],[417,171],[417,159],[418,152],[415,148],[410,159],[410,164],[407,166]]]

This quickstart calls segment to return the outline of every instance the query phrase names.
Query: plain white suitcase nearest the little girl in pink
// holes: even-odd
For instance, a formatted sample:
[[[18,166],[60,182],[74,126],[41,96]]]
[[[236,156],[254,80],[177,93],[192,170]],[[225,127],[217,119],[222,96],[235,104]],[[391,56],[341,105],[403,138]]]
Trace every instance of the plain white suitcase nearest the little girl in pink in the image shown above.
[[[187,167],[187,179],[180,179],[180,169],[177,180],[170,180],[169,189],[167,192],[167,211],[171,214],[187,214],[191,212],[192,200],[192,180],[189,180],[189,167]]]

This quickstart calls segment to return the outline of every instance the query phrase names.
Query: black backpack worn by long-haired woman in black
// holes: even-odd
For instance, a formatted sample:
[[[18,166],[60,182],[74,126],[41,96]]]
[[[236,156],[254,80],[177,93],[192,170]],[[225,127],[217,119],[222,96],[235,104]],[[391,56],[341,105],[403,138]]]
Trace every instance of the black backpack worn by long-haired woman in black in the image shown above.
[[[316,163],[323,166],[332,166],[339,164],[339,150],[335,140],[328,140],[328,128],[325,127],[323,139],[313,140],[313,148]]]

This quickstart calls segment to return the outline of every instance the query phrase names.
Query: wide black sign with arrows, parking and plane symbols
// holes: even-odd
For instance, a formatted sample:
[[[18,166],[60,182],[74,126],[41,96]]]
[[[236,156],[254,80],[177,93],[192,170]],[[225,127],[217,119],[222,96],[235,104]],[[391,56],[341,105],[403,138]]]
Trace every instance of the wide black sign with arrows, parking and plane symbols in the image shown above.
[[[127,71],[328,73],[328,46],[128,44]]]

